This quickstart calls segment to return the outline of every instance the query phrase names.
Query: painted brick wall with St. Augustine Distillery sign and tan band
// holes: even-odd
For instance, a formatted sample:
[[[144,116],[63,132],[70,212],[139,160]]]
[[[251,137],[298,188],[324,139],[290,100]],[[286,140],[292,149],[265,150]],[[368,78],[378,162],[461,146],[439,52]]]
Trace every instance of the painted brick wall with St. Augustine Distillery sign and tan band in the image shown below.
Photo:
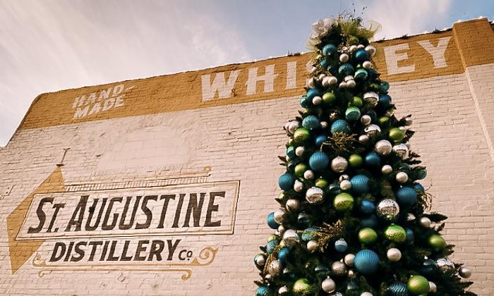
[[[391,82],[397,116],[413,114],[412,149],[428,167],[423,185],[435,196],[433,210],[450,216],[444,233],[457,245],[453,259],[471,266],[479,295],[494,293],[494,59],[484,50],[493,38],[483,19],[375,44],[375,63]],[[258,278],[253,255],[271,233],[265,217],[277,206],[282,125],[299,109],[309,59],[303,54],[41,94],[0,149],[0,292],[252,295]],[[36,237],[25,231],[36,226],[42,197],[67,201],[56,227],[71,220],[73,197],[174,190],[225,190],[212,211],[222,226],[207,228],[200,216],[200,226],[181,227],[183,209],[180,227],[166,231],[42,231]],[[162,260],[122,260],[126,241],[136,249],[145,240],[164,242]],[[115,241],[114,254],[121,257],[50,261],[57,244],[100,241]],[[177,243],[175,252],[168,241]],[[181,250],[191,251],[191,260],[181,260],[187,254],[180,257]],[[100,247],[95,257],[104,252]]]

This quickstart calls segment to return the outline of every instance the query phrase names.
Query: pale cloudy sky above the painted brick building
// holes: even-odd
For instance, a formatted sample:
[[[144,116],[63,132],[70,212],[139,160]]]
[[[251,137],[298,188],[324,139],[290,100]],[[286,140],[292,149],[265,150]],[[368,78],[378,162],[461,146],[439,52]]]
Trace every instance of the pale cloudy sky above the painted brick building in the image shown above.
[[[354,10],[375,39],[494,19],[492,0],[0,0],[0,146],[38,94],[306,51]]]

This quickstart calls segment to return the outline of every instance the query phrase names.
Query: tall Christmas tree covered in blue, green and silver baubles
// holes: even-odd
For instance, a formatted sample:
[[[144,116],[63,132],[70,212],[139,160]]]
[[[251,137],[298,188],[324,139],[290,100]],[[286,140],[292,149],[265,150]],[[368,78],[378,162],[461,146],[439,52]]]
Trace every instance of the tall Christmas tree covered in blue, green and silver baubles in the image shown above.
[[[303,111],[284,126],[280,208],[267,216],[276,232],[254,259],[258,296],[475,295],[418,183],[411,116],[393,115],[373,68],[374,32],[354,16],[313,24]]]

